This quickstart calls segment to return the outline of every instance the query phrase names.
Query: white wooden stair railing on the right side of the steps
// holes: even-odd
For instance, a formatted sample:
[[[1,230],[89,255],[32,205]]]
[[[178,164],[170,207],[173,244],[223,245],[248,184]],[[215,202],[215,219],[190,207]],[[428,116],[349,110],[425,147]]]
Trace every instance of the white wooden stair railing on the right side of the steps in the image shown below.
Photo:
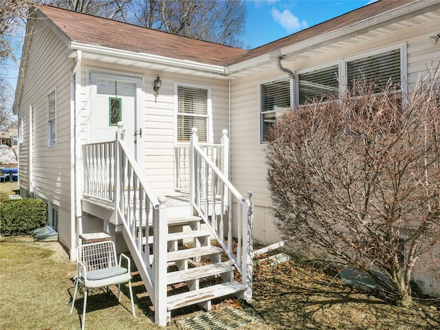
[[[247,192],[246,199],[243,198],[228,179],[227,133],[223,130],[222,148],[219,148],[224,151],[220,162],[222,171],[203,151],[203,146],[199,146],[197,129],[192,129],[189,147],[190,203],[194,215],[203,219],[241,273],[242,283],[247,287],[244,298],[251,300],[254,206],[250,200],[251,192]],[[234,236],[236,247],[233,245]]]

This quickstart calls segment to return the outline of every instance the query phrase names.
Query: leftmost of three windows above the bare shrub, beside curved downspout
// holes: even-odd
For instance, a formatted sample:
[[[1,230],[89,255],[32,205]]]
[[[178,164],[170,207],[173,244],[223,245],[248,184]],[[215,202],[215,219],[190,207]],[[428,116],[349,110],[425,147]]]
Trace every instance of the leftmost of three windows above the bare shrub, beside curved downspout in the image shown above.
[[[280,113],[291,106],[290,79],[283,78],[261,85],[261,142],[266,140],[270,128]]]

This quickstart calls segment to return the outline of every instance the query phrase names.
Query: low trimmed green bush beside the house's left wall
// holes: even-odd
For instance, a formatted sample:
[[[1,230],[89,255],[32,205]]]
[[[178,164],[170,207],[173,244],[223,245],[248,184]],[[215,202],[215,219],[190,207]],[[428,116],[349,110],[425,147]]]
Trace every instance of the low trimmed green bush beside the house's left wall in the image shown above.
[[[46,203],[41,199],[12,199],[0,204],[0,226],[4,236],[32,234],[46,221]]]

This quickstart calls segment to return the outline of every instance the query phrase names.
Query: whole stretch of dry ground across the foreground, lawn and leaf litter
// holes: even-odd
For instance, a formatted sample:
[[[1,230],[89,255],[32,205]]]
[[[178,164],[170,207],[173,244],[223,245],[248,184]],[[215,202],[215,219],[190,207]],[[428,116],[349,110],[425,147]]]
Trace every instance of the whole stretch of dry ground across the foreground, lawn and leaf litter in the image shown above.
[[[0,329],[79,329],[81,298],[69,314],[75,272],[76,264],[58,243],[34,242],[31,237],[0,238]],[[440,329],[439,300],[396,307],[386,296],[351,287],[336,275],[298,256],[276,266],[256,265],[252,304],[229,299],[214,304],[212,313],[226,323],[231,318],[231,325],[234,314],[228,311],[231,307],[241,310],[252,319],[239,328],[246,330]],[[86,327],[159,329],[153,324],[151,302],[136,272],[132,285],[136,318],[129,311],[126,288],[122,289],[122,306],[114,295],[98,292],[89,298]],[[166,329],[191,329],[183,327],[182,321],[203,315],[195,307],[177,310]]]

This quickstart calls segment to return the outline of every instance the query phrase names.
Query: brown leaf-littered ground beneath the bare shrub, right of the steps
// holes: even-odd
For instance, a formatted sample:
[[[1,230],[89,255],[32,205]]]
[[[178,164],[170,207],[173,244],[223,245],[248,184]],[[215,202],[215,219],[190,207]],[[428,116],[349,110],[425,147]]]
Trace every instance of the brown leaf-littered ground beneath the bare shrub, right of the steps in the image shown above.
[[[397,307],[386,296],[351,287],[337,273],[298,256],[275,267],[261,265],[254,282],[253,307],[272,329],[440,328],[439,300]]]

